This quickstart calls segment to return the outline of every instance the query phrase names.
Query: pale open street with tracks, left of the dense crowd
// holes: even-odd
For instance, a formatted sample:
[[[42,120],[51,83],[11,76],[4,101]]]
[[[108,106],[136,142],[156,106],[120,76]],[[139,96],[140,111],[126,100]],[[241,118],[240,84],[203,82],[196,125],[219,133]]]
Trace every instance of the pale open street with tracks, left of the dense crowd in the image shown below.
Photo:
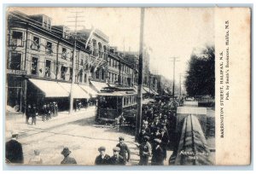
[[[6,140],[11,136],[11,131],[19,131],[18,141],[22,143],[24,164],[34,154],[34,149],[41,151],[43,165],[60,165],[63,156],[61,150],[68,147],[78,165],[94,165],[97,148],[105,146],[106,153],[113,155],[112,148],[119,142],[119,136],[125,137],[125,143],[131,149],[131,160],[127,165],[137,165],[139,156],[135,145],[133,131],[130,127],[121,129],[110,125],[95,125],[95,107],[81,110],[72,116],[66,113],[59,115],[48,122],[38,118],[37,125],[26,125],[25,116],[19,119],[6,120]],[[13,116],[15,117],[15,116]],[[16,115],[17,117],[17,115]],[[31,120],[30,120],[31,122]],[[165,165],[172,151],[167,152]]]

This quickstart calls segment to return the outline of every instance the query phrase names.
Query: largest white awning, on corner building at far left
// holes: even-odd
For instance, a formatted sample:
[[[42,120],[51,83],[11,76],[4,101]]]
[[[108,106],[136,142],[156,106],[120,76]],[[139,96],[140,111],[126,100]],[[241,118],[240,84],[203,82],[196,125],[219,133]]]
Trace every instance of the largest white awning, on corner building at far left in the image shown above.
[[[67,90],[61,88],[61,85],[54,81],[29,78],[29,81],[42,90],[45,97],[68,97]]]

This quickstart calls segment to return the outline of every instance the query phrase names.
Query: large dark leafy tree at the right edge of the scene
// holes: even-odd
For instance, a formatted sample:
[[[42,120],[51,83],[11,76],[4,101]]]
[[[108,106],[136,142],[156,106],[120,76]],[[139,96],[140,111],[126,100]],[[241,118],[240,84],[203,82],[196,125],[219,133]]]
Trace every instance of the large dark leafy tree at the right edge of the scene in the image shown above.
[[[189,96],[215,96],[215,48],[207,46],[200,55],[193,53],[185,81]]]

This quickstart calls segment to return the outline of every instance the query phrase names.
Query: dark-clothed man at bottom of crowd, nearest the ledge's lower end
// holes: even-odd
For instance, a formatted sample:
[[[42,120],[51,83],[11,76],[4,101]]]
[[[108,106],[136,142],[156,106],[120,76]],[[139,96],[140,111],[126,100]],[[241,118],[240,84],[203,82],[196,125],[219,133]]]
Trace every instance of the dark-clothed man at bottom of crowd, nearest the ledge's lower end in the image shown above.
[[[160,147],[160,143],[160,139],[154,139],[151,165],[164,165],[164,152],[163,149]]]

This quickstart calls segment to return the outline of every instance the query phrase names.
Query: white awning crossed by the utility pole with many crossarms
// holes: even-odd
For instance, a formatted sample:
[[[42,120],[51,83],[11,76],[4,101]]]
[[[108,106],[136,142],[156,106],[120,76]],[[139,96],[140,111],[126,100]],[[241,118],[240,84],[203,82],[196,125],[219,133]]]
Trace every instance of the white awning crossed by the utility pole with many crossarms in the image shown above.
[[[70,93],[71,90],[71,84],[69,83],[59,83],[64,90]],[[82,90],[79,87],[79,84],[73,84],[73,98],[90,98],[89,94],[86,93],[84,90]]]

